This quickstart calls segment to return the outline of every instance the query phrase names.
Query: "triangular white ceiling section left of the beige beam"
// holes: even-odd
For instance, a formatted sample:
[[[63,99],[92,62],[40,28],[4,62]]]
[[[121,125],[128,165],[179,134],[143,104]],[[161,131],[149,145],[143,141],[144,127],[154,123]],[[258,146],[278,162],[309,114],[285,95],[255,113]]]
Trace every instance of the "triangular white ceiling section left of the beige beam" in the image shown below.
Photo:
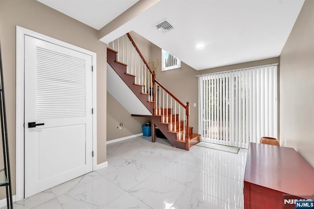
[[[99,30],[139,0],[38,0]]]

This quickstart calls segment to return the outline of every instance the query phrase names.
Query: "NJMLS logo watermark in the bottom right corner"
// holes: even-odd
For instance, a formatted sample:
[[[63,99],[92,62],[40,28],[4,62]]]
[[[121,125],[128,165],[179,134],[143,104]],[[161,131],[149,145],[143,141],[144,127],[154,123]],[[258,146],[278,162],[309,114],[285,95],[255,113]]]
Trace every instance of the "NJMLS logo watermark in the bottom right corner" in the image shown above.
[[[299,198],[292,195],[284,195],[284,209],[314,209],[314,195],[300,195]]]

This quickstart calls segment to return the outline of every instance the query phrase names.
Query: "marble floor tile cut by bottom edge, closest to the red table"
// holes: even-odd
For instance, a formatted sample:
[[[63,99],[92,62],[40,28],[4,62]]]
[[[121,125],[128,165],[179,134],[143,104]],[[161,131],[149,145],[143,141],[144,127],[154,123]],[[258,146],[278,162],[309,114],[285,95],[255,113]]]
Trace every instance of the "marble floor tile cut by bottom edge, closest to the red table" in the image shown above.
[[[171,209],[237,209],[234,205],[187,187]]]

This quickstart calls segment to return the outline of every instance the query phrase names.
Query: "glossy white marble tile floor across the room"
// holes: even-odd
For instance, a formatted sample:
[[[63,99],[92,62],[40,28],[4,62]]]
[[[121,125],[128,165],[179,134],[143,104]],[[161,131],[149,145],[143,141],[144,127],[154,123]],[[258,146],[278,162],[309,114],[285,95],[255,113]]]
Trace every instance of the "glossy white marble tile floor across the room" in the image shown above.
[[[238,154],[135,137],[107,146],[108,167],[14,204],[15,209],[242,209],[247,150]]]

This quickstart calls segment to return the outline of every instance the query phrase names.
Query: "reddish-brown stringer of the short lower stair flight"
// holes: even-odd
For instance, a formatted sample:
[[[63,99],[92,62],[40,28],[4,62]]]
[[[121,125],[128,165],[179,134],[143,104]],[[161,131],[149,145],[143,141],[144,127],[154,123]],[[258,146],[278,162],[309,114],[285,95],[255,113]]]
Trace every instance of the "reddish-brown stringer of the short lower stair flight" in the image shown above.
[[[176,141],[177,134],[176,133],[170,133],[168,132],[168,125],[167,124],[161,124],[161,117],[153,115],[152,117],[152,134],[155,134],[154,131],[154,125],[159,128],[159,130],[162,132],[162,134],[168,139],[168,141],[172,144],[172,146],[179,148],[179,149],[186,149],[186,143]]]

